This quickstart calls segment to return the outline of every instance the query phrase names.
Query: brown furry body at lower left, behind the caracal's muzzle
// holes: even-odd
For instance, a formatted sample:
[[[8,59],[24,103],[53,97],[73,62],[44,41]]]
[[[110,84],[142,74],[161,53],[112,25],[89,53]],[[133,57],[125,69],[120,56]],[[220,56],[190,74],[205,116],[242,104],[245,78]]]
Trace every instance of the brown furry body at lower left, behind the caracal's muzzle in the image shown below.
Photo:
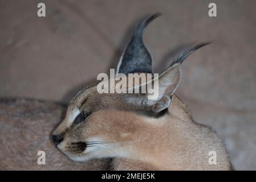
[[[0,170],[105,170],[109,160],[75,163],[60,154],[50,137],[65,106],[37,100],[0,100]],[[38,151],[46,153],[39,165]]]

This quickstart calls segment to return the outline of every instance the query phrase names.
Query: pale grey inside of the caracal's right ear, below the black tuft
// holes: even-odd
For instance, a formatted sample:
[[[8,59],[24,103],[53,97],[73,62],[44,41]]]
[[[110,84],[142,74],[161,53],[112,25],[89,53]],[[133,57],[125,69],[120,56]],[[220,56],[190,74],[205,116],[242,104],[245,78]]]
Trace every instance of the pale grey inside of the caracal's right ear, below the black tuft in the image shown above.
[[[159,96],[155,103],[152,103],[153,111],[160,112],[170,105],[171,97],[180,84],[180,65],[179,63],[174,64],[159,76]]]

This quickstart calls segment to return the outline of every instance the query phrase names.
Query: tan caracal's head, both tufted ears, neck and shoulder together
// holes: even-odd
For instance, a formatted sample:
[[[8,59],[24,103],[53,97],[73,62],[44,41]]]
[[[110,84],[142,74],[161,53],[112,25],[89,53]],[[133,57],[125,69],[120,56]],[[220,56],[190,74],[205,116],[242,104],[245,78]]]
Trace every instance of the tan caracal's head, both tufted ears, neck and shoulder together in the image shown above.
[[[194,122],[174,94],[181,81],[182,61],[208,43],[185,49],[164,72],[153,74],[152,56],[143,43],[143,30],[158,16],[149,16],[137,26],[115,77],[97,77],[100,81],[84,88],[70,101],[52,140],[75,161],[115,158],[115,169],[231,169],[221,139],[209,127]],[[137,81],[132,78],[132,83],[129,82],[129,73]],[[145,79],[140,77],[146,73],[149,75]],[[113,90],[110,83],[114,82],[116,88],[121,80],[125,83],[121,88],[126,92],[100,91],[104,85],[107,91]],[[152,95],[148,89],[151,84],[157,88],[157,94]],[[141,92],[129,92],[138,88]],[[209,151],[218,154],[217,165],[209,164]]]

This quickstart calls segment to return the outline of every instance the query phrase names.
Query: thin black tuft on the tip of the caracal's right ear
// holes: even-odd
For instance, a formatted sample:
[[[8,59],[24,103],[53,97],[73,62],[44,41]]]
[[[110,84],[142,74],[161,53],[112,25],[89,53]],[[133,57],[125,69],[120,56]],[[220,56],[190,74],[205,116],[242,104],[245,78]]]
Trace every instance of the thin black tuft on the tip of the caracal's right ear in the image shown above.
[[[201,43],[201,44],[197,44],[196,46],[191,46],[187,49],[185,49],[184,51],[182,51],[180,53],[180,55],[176,56],[172,62],[172,64],[170,64],[170,67],[172,67],[172,65],[176,64],[176,63],[182,63],[186,57],[188,57],[190,54],[192,54],[194,51],[196,51],[197,49],[203,47],[203,46],[206,46],[210,44],[210,42],[208,43]]]

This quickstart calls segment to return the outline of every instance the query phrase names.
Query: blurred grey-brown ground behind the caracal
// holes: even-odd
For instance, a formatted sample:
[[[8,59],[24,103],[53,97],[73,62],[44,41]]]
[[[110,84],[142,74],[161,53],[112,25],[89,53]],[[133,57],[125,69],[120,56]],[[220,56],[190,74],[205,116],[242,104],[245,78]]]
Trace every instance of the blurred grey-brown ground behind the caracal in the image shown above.
[[[46,17],[37,5],[46,5]],[[217,17],[208,5],[217,5]],[[144,42],[161,72],[184,47],[177,90],[195,121],[226,144],[235,169],[256,169],[256,1],[0,0],[0,98],[67,104],[77,90],[115,68],[131,30],[162,13]]]

